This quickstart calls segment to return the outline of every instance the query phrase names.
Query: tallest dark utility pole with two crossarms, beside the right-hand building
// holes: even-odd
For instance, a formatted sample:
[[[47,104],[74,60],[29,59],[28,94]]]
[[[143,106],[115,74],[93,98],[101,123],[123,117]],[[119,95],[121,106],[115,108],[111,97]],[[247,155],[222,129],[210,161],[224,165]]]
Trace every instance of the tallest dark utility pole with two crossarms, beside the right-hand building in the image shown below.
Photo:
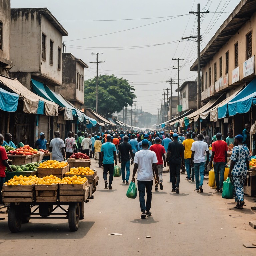
[[[200,35],[200,14],[209,13],[209,11],[207,10],[206,12],[200,12],[200,4],[197,4],[197,12],[190,11],[189,13],[197,15],[197,37],[188,36],[182,39],[197,38],[197,109],[199,109],[201,107],[200,41],[202,40],[202,37]]]

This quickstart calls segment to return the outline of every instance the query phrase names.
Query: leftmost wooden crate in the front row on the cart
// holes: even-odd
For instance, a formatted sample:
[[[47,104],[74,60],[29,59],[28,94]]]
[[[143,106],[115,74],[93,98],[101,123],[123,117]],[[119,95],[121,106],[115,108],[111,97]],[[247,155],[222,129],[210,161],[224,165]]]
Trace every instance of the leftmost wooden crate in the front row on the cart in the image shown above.
[[[35,201],[34,185],[3,185],[3,202],[6,203],[32,203]]]

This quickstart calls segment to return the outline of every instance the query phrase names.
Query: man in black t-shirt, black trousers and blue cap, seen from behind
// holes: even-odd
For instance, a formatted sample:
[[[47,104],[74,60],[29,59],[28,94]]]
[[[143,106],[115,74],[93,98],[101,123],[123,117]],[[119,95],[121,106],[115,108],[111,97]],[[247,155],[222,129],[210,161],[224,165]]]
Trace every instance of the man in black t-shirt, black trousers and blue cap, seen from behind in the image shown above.
[[[173,134],[173,141],[169,143],[167,149],[166,162],[170,166],[170,176],[172,177],[172,192],[180,193],[180,168],[184,166],[184,147],[178,142],[178,134]]]

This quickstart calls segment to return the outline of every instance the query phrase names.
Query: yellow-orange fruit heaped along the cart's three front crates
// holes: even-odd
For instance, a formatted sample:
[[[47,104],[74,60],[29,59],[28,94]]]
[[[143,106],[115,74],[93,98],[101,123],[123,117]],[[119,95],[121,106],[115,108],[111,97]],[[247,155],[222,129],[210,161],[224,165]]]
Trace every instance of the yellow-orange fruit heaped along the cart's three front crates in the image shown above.
[[[32,176],[17,176],[15,175],[12,179],[6,181],[4,184],[7,186],[13,185],[51,185],[51,184],[84,184],[87,178],[81,178],[80,176],[65,177],[63,179],[53,176],[45,176],[38,178],[36,175]]]

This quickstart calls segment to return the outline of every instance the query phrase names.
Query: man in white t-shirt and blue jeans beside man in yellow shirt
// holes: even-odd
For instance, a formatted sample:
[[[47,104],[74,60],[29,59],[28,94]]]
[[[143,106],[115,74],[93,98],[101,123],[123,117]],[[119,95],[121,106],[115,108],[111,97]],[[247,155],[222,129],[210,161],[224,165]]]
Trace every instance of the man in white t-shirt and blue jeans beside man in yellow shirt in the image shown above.
[[[190,160],[190,165],[195,169],[196,178],[196,189],[195,191],[203,192],[204,183],[204,168],[205,164],[209,163],[209,147],[206,142],[203,141],[203,134],[199,133],[197,135],[197,141],[192,143],[191,147],[192,155]],[[206,152],[206,161],[205,161]],[[200,181],[199,181],[200,176]]]

